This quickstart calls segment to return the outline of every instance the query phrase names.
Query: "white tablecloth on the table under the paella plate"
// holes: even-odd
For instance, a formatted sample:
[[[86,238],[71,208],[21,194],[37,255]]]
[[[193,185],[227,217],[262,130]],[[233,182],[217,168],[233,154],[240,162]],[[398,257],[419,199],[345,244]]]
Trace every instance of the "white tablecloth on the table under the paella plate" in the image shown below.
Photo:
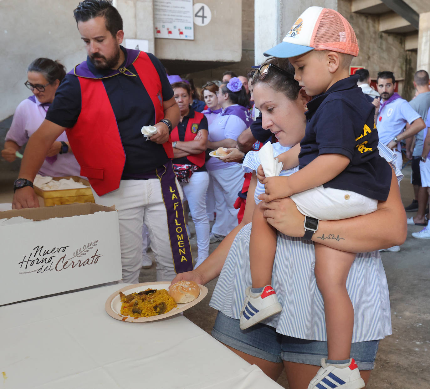
[[[111,318],[104,303],[122,286],[1,306],[0,388],[281,387],[182,315]]]

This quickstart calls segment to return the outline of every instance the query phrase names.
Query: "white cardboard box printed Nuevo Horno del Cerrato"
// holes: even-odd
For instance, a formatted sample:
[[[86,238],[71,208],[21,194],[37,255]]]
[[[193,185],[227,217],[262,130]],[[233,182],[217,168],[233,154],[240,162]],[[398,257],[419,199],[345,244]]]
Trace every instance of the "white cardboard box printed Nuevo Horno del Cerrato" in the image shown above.
[[[92,203],[0,212],[0,258],[0,305],[118,281],[118,212]]]

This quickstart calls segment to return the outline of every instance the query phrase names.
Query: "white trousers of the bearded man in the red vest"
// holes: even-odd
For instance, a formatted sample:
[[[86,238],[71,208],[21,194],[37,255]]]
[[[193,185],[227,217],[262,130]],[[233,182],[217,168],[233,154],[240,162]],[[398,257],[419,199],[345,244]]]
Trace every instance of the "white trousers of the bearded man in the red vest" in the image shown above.
[[[178,182],[176,184],[182,199],[182,190]],[[157,262],[157,281],[172,281],[176,273],[160,181],[157,178],[121,180],[120,187],[113,192],[103,196],[98,196],[94,190],[92,192],[96,204],[115,205],[118,210],[123,281],[139,282],[143,223],[148,227],[151,249]]]

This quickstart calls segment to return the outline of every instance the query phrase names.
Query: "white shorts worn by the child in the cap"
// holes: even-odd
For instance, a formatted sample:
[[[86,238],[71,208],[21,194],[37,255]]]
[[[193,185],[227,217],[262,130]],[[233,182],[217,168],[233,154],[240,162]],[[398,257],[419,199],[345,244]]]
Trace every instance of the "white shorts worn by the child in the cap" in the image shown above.
[[[429,175],[430,177],[430,175]],[[340,220],[376,211],[378,200],[350,190],[321,186],[291,196],[297,209],[318,220]]]

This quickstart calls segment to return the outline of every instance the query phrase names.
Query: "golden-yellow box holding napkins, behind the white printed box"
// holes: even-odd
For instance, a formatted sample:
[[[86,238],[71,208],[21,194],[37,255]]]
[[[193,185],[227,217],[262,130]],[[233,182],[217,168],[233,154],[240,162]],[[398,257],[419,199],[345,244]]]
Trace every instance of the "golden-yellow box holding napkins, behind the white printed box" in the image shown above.
[[[52,179],[55,181],[59,181],[61,180],[61,178],[71,178],[75,182],[82,182],[84,185],[87,186],[87,188],[43,190],[39,187],[34,186],[34,192],[37,194],[37,198],[39,199],[39,205],[41,207],[73,204],[75,202],[94,202],[94,196],[92,195],[91,187],[89,186],[88,180],[77,176],[53,177]]]

